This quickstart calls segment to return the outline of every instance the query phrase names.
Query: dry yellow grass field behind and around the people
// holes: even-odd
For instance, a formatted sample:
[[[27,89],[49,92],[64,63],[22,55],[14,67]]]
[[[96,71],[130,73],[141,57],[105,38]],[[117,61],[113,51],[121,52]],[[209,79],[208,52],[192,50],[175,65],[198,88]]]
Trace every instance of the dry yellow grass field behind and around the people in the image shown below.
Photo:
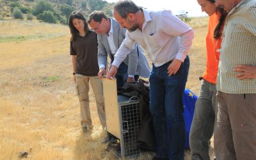
[[[189,24],[195,39],[187,88],[197,94],[205,68],[207,18]],[[95,127],[81,132],[69,38],[67,26],[0,21],[0,159],[19,159],[21,151],[29,153],[27,159],[115,159],[101,143],[106,135],[92,92]],[[139,159],[150,159],[150,154]]]

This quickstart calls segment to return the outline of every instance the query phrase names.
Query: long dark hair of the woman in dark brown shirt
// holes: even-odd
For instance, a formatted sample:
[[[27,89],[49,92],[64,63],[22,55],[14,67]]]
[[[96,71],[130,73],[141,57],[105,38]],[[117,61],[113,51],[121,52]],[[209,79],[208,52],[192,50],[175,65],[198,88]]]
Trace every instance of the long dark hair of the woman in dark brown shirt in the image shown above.
[[[81,12],[79,11],[74,11],[70,14],[69,20],[68,20],[68,27],[70,28],[70,33],[71,33],[71,41],[76,40],[77,35],[79,35],[79,31],[75,28],[73,24],[74,19],[81,19],[84,21],[84,31],[85,33],[88,33],[90,31],[88,24],[86,22],[86,19],[84,19],[84,16]]]

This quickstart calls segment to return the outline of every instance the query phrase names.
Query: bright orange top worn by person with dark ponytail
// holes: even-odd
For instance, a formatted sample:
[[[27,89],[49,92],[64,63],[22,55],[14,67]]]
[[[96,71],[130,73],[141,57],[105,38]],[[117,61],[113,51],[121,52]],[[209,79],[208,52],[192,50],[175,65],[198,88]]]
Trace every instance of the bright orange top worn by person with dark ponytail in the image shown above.
[[[214,29],[219,23],[220,13],[214,13],[209,17],[208,33],[206,36],[206,68],[203,74],[205,81],[216,84],[216,78],[218,74],[218,65],[220,60],[220,45],[221,38],[214,40]],[[223,29],[223,25],[221,27]]]

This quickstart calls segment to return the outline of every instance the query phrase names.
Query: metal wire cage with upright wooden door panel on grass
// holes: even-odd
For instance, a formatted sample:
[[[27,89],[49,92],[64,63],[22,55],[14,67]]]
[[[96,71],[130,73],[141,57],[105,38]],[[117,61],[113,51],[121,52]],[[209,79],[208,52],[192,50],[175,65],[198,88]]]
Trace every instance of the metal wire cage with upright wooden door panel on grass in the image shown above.
[[[103,79],[106,123],[109,145],[116,157],[137,157],[140,129],[140,99],[117,95],[115,79]]]

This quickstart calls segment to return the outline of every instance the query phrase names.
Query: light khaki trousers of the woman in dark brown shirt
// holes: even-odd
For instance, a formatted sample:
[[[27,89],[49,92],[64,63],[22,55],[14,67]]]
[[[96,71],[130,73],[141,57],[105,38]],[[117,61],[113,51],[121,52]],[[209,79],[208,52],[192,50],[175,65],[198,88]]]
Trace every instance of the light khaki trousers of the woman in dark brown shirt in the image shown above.
[[[92,86],[92,90],[96,100],[100,124],[104,129],[106,127],[106,115],[104,108],[102,79],[97,76],[83,76],[80,74],[76,74],[76,90],[80,102],[81,125],[82,127],[88,127],[89,129],[93,128],[88,95],[90,90],[89,81]]]

